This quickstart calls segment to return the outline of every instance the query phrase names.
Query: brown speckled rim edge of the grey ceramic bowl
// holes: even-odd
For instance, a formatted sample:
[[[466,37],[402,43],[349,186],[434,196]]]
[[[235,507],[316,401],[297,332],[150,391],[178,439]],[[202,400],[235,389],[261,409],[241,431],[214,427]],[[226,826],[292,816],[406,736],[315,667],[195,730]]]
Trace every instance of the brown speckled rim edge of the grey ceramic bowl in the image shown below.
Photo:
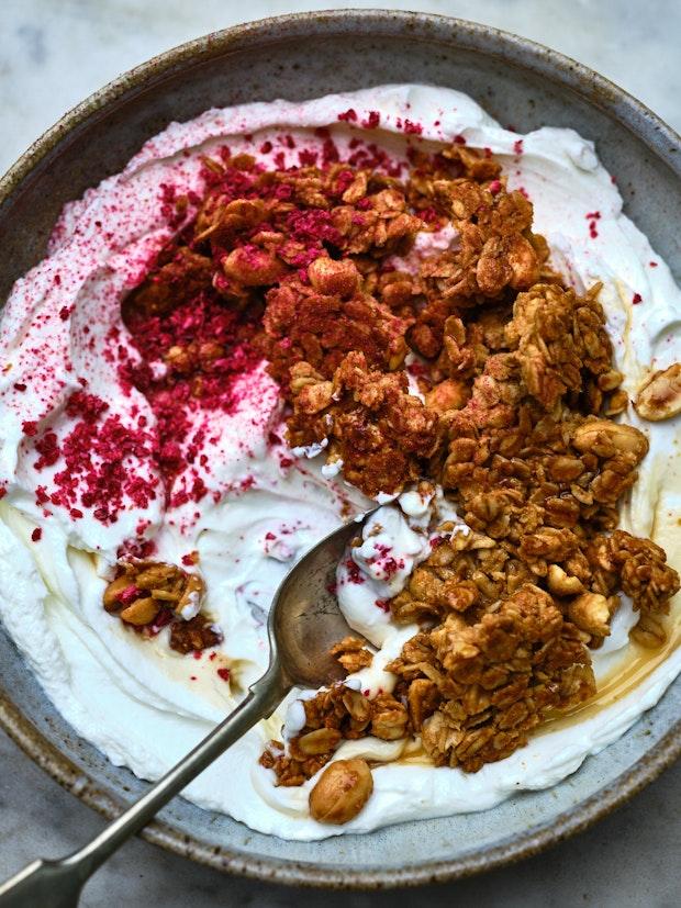
[[[219,56],[227,48],[253,46],[265,38],[286,38],[287,35],[298,34],[305,25],[314,25],[317,33],[325,27],[330,32],[347,32],[355,24],[366,29],[371,22],[377,26],[381,23],[393,23],[421,40],[444,41],[449,37],[458,47],[484,51],[546,76],[552,82],[577,92],[588,102],[616,117],[681,178],[679,135],[635,98],[562,54],[507,32],[458,19],[388,10],[338,10],[277,16],[213,32],[131,69],[65,114],[31,145],[0,179],[0,205],[30,179],[36,165],[72,131],[88,120],[103,115],[116,99],[131,90],[143,88],[153,77],[183,65],[190,66]],[[32,760],[85,804],[110,818],[121,812],[121,804],[99,788],[86,773],[37,731],[22,714],[21,708],[1,690],[0,726]],[[536,854],[580,832],[637,794],[680,754],[681,720],[629,770],[557,819],[529,829],[512,842],[504,842],[450,861],[405,866],[401,871],[335,870],[275,857],[244,856],[230,849],[210,845],[160,822],[152,823],[142,834],[149,842],[192,861],[264,881],[333,888],[416,886],[489,871]]]

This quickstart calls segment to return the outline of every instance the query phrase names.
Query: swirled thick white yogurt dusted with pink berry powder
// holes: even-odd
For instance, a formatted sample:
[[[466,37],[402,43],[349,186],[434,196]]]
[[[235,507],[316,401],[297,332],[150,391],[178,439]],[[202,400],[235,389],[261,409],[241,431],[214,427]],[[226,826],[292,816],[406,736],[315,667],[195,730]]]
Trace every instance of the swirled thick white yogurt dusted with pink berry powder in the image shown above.
[[[350,110],[354,117],[339,119]],[[510,187],[522,188],[534,203],[535,229],[546,236],[556,266],[580,291],[603,283],[600,299],[629,395],[651,368],[681,359],[681,293],[666,264],[623,214],[616,186],[592,143],[571,130],[547,126],[521,136],[459,92],[386,86],[304,103],[210,110],[190,123],[172,123],[147,142],[122,173],[66,206],[48,257],[16,282],[0,322],[0,615],[76,731],[144,778],[164,773],[236,705],[267,663],[265,619],[276,586],[305,549],[370,503],[342,481],[339,464],[325,464],[322,448],[288,450],[278,388],[264,362],[244,371],[230,412],[192,416],[199,440],[191,457],[182,452],[187,467],[176,479],[181,494],[165,503],[150,456],[155,414],[144,395],[124,386],[116,369],[118,348],[126,343],[120,304],[178,228],[169,223],[163,199],[170,193],[191,200],[202,191],[202,155],[227,144],[233,154],[284,167],[297,164],[301,150],[321,146],[320,127],[330,128],[342,153],[360,137],[395,160],[406,159],[409,143],[434,148],[457,136],[471,147],[489,148]],[[446,248],[453,240],[440,232],[424,235],[422,243]],[[411,256],[418,254],[417,244]],[[108,429],[83,441],[74,437],[82,412],[75,414],[68,401],[85,386],[107,404]],[[679,421],[643,423],[634,413],[627,418],[646,433],[650,452],[622,526],[652,538],[680,568]],[[60,474],[63,463],[51,462],[48,445],[36,470],[30,442],[38,431],[41,437],[54,433],[62,445],[68,439],[74,448],[69,477]],[[85,461],[79,456],[83,444]],[[102,487],[98,466],[110,445],[125,451],[124,475],[105,478]],[[74,506],[74,483],[88,486],[91,506]],[[201,496],[193,494],[197,483],[206,490]],[[103,522],[101,512],[98,517],[102,507],[114,508],[116,519]],[[375,517],[380,536],[367,534],[354,553],[366,583],[353,584],[348,567],[339,569],[342,607],[377,650],[372,665],[349,680],[357,688],[390,688],[392,676],[383,666],[415,628],[393,627],[380,603],[427,554],[429,527],[443,519],[438,509],[444,507],[413,491],[387,503]],[[467,531],[456,515],[446,516],[453,531]],[[168,649],[166,631],[142,639],[102,608],[120,547],[139,535],[155,539],[160,560],[179,564],[198,552],[206,605],[224,635],[212,655],[181,657]],[[672,638],[678,618],[677,608]],[[626,661],[634,620],[625,603],[613,634],[594,654],[599,680]],[[604,702],[598,715],[549,727],[526,748],[475,774],[410,762],[401,741],[346,741],[338,758],[394,762],[373,771],[367,807],[337,828],[309,816],[314,778],[298,788],[277,788],[272,773],[258,765],[270,738],[301,727],[300,694],[292,695],[189,786],[187,796],[291,839],[484,809],[573,772],[652,706],[680,669],[681,651],[670,647],[634,691]]]

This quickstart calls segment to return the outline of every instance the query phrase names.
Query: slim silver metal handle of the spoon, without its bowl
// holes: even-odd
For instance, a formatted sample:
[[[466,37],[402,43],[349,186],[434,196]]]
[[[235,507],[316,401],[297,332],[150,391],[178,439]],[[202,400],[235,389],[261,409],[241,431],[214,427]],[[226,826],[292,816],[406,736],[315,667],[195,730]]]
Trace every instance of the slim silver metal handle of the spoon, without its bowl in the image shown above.
[[[270,716],[291,688],[278,661],[249,687],[246,699],[91,842],[60,861],[34,861],[0,885],[0,908],[72,908],[94,871],[210,763],[260,719]]]

